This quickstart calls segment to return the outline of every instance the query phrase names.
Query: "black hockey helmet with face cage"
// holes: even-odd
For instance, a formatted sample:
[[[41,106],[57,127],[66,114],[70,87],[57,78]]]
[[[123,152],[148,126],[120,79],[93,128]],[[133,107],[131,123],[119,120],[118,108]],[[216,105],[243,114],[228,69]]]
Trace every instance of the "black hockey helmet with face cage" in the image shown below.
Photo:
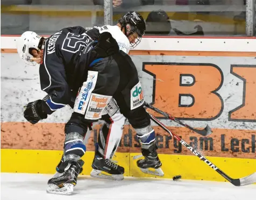
[[[129,37],[129,35],[132,35],[133,33],[138,34],[138,38],[131,43],[131,48],[136,47],[146,31],[143,17],[136,11],[130,11],[119,19],[118,23],[121,25],[121,30],[124,28],[126,37]]]

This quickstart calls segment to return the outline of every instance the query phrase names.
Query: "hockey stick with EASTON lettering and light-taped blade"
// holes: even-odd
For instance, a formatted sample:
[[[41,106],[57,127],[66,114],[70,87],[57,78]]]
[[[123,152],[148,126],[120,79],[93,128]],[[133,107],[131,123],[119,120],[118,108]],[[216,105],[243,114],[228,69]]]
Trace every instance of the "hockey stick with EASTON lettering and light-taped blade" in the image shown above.
[[[221,169],[219,169],[218,167],[216,167],[212,162],[210,162],[208,159],[206,159],[202,154],[200,154],[199,152],[197,152],[193,147],[191,147],[189,144],[187,144],[187,142],[185,142],[184,140],[182,140],[179,136],[177,136],[175,133],[173,133],[172,131],[170,131],[164,124],[162,124],[157,118],[155,118],[154,116],[152,116],[150,113],[148,113],[150,115],[150,118],[157,123],[163,130],[165,130],[166,132],[168,132],[170,135],[172,135],[173,138],[175,138],[176,140],[178,140],[184,147],[186,147],[187,149],[189,149],[189,151],[191,151],[193,154],[195,154],[198,158],[200,158],[200,160],[204,161],[205,163],[207,163],[207,165],[209,165],[212,169],[214,169],[217,173],[219,173],[220,175],[222,175],[224,178],[226,178],[227,181],[229,181],[230,183],[232,183],[235,186],[243,186],[243,185],[248,185],[248,184],[253,184],[256,183],[256,172],[254,172],[251,175],[248,175],[246,177],[243,178],[238,178],[238,179],[233,179],[230,176],[226,175]]]

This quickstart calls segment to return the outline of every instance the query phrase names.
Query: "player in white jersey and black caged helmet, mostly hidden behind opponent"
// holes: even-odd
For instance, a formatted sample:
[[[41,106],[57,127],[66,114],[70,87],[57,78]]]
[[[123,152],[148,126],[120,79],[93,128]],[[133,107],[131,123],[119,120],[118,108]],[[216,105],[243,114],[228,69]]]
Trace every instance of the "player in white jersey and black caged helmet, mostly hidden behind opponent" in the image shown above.
[[[136,30],[136,27],[140,30]],[[134,48],[139,44],[141,33],[145,32],[145,24],[143,18],[137,12],[128,12],[124,15],[118,22],[116,26],[101,26],[94,27],[93,29],[87,31],[94,40],[97,39],[97,35],[102,32],[110,32],[118,42],[119,49],[125,53],[129,53],[130,46]],[[119,34],[121,32],[121,34]],[[132,34],[134,33],[135,34]],[[135,36],[135,37],[134,37]],[[129,42],[131,44],[129,44]],[[105,123],[99,130],[98,135],[98,145],[95,148],[95,158],[93,161],[93,170],[91,171],[91,176],[110,178],[115,180],[123,180],[124,169],[116,165],[111,161],[113,154],[115,154],[117,147],[119,145],[120,139],[122,138],[123,125],[126,122],[126,118],[120,110],[114,99],[111,99],[108,105],[108,114],[103,115]],[[62,162],[60,162],[61,164]],[[148,174],[163,175],[161,169],[159,171],[148,169],[150,167],[154,168],[154,165],[142,165],[141,160],[137,162],[138,167],[141,171]],[[101,172],[107,172],[101,173]],[[122,172],[122,173],[120,173]]]

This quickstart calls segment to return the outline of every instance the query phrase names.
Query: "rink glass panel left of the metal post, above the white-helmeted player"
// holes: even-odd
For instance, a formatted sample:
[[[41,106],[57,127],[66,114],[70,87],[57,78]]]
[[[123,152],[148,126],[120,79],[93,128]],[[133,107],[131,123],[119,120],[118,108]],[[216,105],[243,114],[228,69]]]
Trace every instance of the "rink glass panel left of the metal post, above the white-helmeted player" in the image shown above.
[[[104,24],[103,6],[93,0],[3,0],[1,34],[34,31],[51,35],[63,27]]]

